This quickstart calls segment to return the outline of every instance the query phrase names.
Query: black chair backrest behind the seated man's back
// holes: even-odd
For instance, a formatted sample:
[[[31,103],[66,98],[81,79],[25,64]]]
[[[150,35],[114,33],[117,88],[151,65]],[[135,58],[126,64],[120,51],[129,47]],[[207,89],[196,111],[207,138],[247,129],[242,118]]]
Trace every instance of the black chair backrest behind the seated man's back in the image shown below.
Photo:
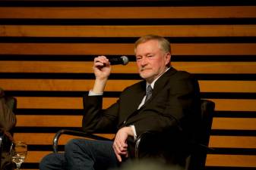
[[[204,169],[206,162],[208,144],[210,140],[211,125],[213,122],[215,104],[211,100],[201,100],[201,125],[199,125],[199,131],[196,134],[198,137],[198,145],[195,147],[188,163],[189,170],[201,170]]]

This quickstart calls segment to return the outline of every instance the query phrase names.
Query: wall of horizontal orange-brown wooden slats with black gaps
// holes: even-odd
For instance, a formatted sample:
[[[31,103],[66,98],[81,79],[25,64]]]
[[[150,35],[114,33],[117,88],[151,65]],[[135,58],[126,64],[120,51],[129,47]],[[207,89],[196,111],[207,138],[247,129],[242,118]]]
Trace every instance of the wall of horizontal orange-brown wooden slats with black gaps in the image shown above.
[[[38,169],[58,129],[81,128],[93,57],[131,60],[113,66],[104,108],[140,80],[133,43],[149,33],[170,40],[173,66],[194,73],[201,97],[216,103],[207,169],[256,167],[255,2],[0,1],[0,87],[17,97],[23,168]]]

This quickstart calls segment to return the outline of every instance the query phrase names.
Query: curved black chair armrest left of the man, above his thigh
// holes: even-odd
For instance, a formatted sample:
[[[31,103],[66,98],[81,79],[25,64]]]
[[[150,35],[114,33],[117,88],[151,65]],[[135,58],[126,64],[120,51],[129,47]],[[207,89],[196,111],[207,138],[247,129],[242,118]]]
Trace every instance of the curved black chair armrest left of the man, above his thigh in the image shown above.
[[[57,131],[55,134],[55,137],[53,138],[53,152],[58,153],[58,138],[62,134],[68,134],[68,135],[73,135],[73,136],[79,136],[79,137],[84,137],[84,138],[90,138],[90,139],[96,139],[96,140],[103,140],[103,141],[110,141],[109,138],[104,138],[97,136],[96,134],[90,134],[84,131],[73,131],[73,130],[68,130],[68,129],[61,129]]]

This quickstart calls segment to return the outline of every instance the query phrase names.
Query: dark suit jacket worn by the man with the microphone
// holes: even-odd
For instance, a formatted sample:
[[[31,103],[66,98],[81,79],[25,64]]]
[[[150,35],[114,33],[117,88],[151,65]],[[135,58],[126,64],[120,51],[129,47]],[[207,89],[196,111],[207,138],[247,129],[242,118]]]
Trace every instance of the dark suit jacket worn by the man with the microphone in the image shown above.
[[[156,81],[150,100],[137,110],[145,93],[146,81],[137,82],[125,88],[106,110],[102,110],[102,96],[84,96],[84,131],[116,132],[134,125],[137,136],[145,131],[164,133],[172,138],[172,146],[179,144],[187,150],[183,141],[194,140],[201,114],[198,81],[187,72],[170,68]]]

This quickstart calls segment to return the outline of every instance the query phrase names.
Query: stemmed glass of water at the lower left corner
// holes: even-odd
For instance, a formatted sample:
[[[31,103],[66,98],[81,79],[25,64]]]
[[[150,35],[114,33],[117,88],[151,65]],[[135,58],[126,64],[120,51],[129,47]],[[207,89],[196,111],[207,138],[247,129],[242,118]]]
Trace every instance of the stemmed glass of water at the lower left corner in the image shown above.
[[[11,146],[11,159],[16,164],[17,170],[20,170],[21,163],[27,156],[27,144],[22,141],[16,141]]]

